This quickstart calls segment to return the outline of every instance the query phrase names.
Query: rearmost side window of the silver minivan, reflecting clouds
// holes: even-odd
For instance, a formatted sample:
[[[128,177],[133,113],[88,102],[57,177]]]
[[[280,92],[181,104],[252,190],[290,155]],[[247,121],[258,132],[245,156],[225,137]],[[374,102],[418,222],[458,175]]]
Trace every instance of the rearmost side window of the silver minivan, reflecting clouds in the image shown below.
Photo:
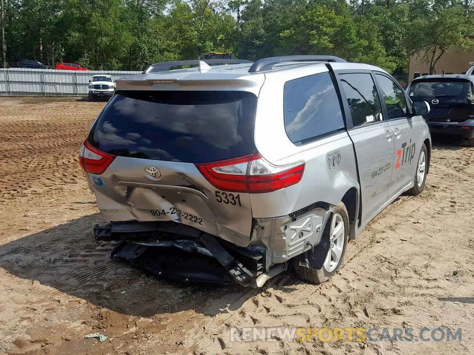
[[[283,111],[286,134],[295,144],[344,128],[341,106],[329,72],[287,81]]]

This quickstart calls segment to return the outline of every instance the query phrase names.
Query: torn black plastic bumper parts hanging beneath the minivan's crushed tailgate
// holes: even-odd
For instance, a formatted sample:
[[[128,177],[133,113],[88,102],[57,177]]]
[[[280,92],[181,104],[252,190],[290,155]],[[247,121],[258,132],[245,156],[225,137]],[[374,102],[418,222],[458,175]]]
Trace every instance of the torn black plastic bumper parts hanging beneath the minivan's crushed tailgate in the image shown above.
[[[266,248],[242,248],[176,222],[112,222],[96,225],[94,235],[96,240],[122,241],[110,257],[182,282],[228,284],[234,279],[261,287],[286,269],[286,264],[266,265]]]

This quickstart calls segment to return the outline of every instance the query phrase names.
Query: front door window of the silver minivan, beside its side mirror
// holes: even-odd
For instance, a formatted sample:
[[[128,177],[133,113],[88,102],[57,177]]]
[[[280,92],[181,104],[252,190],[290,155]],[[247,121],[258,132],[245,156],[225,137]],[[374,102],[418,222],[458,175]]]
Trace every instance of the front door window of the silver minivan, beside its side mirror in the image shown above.
[[[392,79],[385,75],[375,74],[375,80],[382,91],[383,101],[387,107],[387,119],[402,118],[407,116],[407,102],[405,95]]]

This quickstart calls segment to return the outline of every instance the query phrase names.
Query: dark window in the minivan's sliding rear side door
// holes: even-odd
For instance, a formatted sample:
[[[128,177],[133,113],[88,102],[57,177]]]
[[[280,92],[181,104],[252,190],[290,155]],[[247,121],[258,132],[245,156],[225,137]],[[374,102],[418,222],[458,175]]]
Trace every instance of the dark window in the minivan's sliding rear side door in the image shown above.
[[[382,120],[380,99],[369,73],[339,74],[354,127]]]

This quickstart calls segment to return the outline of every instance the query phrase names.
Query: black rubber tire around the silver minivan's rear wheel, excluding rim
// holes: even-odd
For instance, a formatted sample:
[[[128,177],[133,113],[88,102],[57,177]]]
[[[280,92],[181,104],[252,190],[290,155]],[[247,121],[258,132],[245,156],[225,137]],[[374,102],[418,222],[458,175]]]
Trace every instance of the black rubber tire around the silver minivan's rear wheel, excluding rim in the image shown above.
[[[336,218],[336,215],[340,215],[342,217],[342,220],[344,222],[344,244],[342,247],[342,253],[341,257],[339,259],[339,263],[337,266],[332,270],[331,272],[328,272],[326,268],[321,266],[320,269],[313,269],[310,267],[306,266],[301,266],[299,265],[299,260],[298,257],[294,258],[294,269],[296,272],[296,275],[298,278],[300,278],[303,281],[309,282],[311,284],[322,284],[325,281],[328,281],[328,279],[337,273],[337,271],[341,268],[341,266],[344,265],[344,255],[346,254],[346,248],[347,248],[347,241],[349,239],[349,215],[347,213],[346,205],[344,203],[340,203],[333,211],[331,219],[328,221],[328,223],[332,223],[334,218]],[[329,226],[330,226],[329,224]],[[325,228],[324,229],[325,235],[323,235],[323,238],[329,238],[329,233],[330,233],[330,228]],[[328,251],[329,252],[329,251]]]

